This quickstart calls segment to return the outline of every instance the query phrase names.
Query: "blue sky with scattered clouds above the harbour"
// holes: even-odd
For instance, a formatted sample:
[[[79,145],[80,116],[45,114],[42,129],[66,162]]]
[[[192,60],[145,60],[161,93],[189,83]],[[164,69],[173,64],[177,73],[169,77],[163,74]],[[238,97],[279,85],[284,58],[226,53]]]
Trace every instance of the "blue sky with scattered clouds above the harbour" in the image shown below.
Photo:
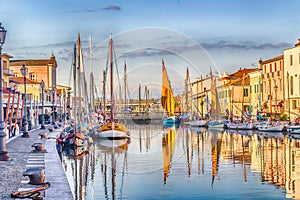
[[[3,52],[13,59],[58,63],[58,83],[70,85],[80,33],[85,71],[101,90],[112,33],[120,82],[127,65],[131,96],[138,85],[160,95],[164,59],[175,94],[210,68],[222,74],[283,54],[300,38],[299,0],[0,0],[7,30]],[[89,52],[92,36],[92,54]],[[91,62],[90,62],[91,60]],[[92,65],[90,65],[92,63]],[[98,94],[100,95],[100,94]]]

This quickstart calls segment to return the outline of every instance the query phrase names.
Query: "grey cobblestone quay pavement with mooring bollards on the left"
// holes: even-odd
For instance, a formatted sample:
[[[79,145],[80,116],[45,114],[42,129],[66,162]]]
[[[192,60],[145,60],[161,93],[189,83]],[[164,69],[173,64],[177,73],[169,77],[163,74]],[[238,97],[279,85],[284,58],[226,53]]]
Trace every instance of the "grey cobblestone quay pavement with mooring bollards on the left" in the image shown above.
[[[50,139],[41,138],[39,136],[39,133],[46,133],[47,137],[49,136],[51,137]],[[29,136],[30,136],[29,138],[22,138],[19,135],[19,136],[15,136],[15,138],[13,138],[12,140],[10,139],[10,141],[7,143],[7,152],[8,152],[8,156],[10,157],[10,160],[0,161],[0,194],[1,194],[0,199],[13,199],[11,198],[12,192],[20,191],[24,188],[38,187],[38,186],[28,184],[29,178],[27,176],[23,176],[25,170],[27,168],[33,167],[35,164],[37,164],[38,166],[42,166],[42,168],[45,169],[45,173],[44,173],[45,182],[51,180],[56,183],[54,185],[51,184],[51,186],[48,188],[50,189],[52,187],[51,191],[53,191],[48,193],[49,198],[47,198],[47,195],[44,196],[45,192],[42,193],[41,196],[44,196],[43,199],[53,199],[53,197],[55,197],[56,194],[57,195],[59,194],[57,193],[57,190],[59,188],[60,190],[61,188],[64,188],[62,194],[64,194],[65,197],[63,199],[73,199],[67,179],[63,172],[63,168],[60,164],[58,154],[56,152],[55,139],[53,139],[56,134],[57,132],[50,133],[48,129],[45,130],[37,129],[29,132]],[[43,158],[39,160],[39,162],[42,160],[42,162],[40,163],[32,163],[30,159],[30,156],[32,156],[33,153],[32,151],[34,150],[34,148],[32,147],[32,144],[34,143],[42,143],[45,145],[45,147],[47,146],[47,148],[49,148],[50,150],[48,151],[45,148],[47,153],[43,153],[42,155]],[[46,160],[48,161],[45,162]],[[50,172],[51,168],[54,168],[55,171],[59,171],[60,173],[58,175],[60,177],[59,182],[55,181],[55,174]],[[65,178],[61,179],[61,176]]]

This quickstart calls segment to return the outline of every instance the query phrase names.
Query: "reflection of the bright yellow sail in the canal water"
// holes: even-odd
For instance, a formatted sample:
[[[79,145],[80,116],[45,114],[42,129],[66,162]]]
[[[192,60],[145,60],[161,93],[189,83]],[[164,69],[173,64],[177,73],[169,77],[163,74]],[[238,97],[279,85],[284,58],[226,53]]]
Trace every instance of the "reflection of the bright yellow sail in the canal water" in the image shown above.
[[[168,133],[162,139],[162,151],[164,160],[164,184],[166,184],[167,177],[171,168],[172,157],[175,149],[175,131],[169,129]]]

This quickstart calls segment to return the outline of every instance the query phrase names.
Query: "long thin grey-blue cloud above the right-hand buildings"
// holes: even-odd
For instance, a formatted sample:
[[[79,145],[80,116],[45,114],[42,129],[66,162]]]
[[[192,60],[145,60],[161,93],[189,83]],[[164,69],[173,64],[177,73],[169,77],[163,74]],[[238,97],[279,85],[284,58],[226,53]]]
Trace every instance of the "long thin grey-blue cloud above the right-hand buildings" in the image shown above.
[[[229,48],[229,49],[286,49],[292,46],[291,43],[279,42],[279,43],[263,43],[255,44],[250,41],[238,41],[236,43],[220,40],[217,42],[211,43],[201,43],[205,49],[214,49],[214,48]]]

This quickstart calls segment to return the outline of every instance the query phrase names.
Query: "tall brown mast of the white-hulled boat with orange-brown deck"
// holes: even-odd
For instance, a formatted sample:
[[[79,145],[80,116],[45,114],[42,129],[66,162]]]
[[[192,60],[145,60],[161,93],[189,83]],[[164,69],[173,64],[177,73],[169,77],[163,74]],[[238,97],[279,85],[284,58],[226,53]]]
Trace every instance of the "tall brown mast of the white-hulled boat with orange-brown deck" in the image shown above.
[[[109,64],[110,64],[110,119],[111,122],[114,121],[114,85],[113,85],[113,49],[112,49],[113,41],[112,34],[110,33],[109,39]]]

